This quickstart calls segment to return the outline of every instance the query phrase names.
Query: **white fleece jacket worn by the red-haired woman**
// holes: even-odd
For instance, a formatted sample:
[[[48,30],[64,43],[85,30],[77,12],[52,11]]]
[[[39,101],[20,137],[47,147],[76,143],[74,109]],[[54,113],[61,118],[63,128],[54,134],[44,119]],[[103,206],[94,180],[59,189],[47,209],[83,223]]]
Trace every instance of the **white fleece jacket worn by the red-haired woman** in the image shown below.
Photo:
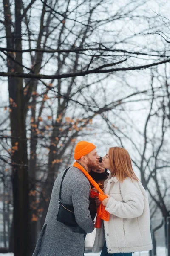
[[[151,250],[149,202],[142,183],[130,178],[122,183],[110,174],[104,191],[111,196],[106,205],[110,219],[96,230],[93,251],[101,251],[105,241],[108,253]]]

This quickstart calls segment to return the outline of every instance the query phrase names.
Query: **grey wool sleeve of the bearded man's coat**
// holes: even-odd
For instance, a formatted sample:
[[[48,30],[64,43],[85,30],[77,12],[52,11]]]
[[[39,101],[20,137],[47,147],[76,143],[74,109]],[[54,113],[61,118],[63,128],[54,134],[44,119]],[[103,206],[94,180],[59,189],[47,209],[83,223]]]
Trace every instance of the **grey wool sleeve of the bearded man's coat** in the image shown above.
[[[74,186],[72,202],[74,214],[79,227],[85,230],[85,233],[91,233],[94,230],[94,221],[91,219],[89,207],[90,184],[79,182]]]

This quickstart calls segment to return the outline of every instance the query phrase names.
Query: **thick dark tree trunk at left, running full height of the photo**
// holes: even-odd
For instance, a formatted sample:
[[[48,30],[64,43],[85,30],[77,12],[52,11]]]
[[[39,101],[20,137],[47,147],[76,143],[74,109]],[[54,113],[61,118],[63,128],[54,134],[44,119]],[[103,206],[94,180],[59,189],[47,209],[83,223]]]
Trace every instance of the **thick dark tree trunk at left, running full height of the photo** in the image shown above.
[[[21,50],[21,1],[15,0],[15,49]],[[15,72],[23,72],[22,53],[16,52]],[[9,84],[12,191],[14,218],[14,255],[26,256],[28,251],[28,156],[26,138],[26,110],[23,79],[15,78]]]

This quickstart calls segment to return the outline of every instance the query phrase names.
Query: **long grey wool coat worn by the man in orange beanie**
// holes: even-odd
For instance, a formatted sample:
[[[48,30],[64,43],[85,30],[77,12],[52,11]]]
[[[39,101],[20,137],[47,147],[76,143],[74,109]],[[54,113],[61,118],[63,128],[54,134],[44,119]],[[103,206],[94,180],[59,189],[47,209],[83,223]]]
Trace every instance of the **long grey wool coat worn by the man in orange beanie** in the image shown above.
[[[56,220],[59,189],[64,172],[55,180],[51,200],[33,256],[83,256],[84,234],[75,233],[71,227]],[[94,230],[89,212],[90,183],[81,170],[68,169],[62,183],[61,201],[74,207],[76,221],[85,233]]]

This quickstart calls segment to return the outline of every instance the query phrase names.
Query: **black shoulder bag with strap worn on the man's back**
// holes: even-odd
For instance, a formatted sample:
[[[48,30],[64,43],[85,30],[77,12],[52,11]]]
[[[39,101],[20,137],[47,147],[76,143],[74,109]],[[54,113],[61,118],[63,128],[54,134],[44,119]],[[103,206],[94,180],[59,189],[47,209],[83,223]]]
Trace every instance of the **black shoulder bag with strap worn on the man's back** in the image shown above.
[[[61,201],[62,182],[63,182],[64,177],[69,168],[67,168],[65,170],[65,172],[62,176],[62,181],[61,181],[60,190],[59,190],[59,200],[58,200],[59,211],[58,211],[56,219],[57,219],[57,221],[62,222],[63,224],[65,224],[67,226],[77,227],[78,224],[76,222],[75,215],[74,215],[74,207],[72,205],[63,204]]]

